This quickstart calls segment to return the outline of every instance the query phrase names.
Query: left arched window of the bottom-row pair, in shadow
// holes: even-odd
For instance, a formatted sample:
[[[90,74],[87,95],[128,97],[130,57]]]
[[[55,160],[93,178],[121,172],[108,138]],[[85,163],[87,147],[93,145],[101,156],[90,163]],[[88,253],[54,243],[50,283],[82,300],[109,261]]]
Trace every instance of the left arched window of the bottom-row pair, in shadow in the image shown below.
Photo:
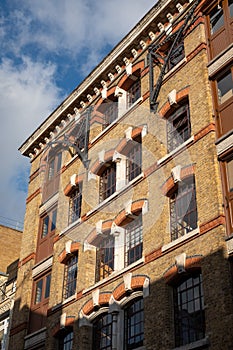
[[[93,322],[93,350],[112,349],[112,315],[102,314]]]

